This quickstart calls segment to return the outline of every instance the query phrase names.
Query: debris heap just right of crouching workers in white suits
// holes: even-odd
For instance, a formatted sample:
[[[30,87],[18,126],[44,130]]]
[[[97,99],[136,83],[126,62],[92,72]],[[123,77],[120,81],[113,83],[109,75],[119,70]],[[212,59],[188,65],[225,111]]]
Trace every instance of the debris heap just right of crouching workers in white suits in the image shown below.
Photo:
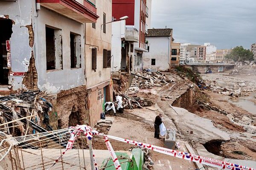
[[[130,97],[123,94],[122,97],[124,99],[123,108],[129,108],[129,109],[143,108],[145,106],[152,106],[153,104],[150,100],[137,97],[137,96]]]

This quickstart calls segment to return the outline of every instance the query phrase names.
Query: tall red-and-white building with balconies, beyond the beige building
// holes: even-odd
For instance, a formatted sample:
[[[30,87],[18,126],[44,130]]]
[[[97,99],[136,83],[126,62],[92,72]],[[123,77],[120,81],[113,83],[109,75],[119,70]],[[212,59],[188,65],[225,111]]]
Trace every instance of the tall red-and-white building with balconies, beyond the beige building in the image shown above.
[[[113,0],[112,71],[140,72],[143,56],[148,51],[147,21],[150,23],[151,0]],[[120,20],[128,16],[126,20]]]

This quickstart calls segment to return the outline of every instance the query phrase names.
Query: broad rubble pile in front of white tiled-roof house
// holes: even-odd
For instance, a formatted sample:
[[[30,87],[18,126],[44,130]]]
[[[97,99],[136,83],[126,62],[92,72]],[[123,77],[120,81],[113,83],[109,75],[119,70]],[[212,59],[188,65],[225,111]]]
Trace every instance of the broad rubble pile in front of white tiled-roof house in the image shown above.
[[[141,72],[134,74],[135,78],[131,82],[131,87],[151,88],[155,86],[168,85],[173,80],[168,79],[165,74],[157,72]]]

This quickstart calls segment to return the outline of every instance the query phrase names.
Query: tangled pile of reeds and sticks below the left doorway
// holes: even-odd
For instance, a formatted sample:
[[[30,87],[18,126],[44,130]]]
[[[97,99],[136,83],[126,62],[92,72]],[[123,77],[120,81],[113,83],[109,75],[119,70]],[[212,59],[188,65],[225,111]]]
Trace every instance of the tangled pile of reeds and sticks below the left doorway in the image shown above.
[[[20,91],[1,96],[0,130],[12,136],[53,130],[49,125],[48,111],[52,111],[52,104],[48,102],[50,98],[49,94],[40,91]]]

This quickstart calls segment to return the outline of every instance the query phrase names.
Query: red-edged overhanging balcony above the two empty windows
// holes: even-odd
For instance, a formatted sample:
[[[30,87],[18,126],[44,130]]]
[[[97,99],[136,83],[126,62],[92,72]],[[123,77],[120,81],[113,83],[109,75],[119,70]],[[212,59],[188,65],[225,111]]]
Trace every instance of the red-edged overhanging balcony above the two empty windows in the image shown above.
[[[99,18],[95,0],[41,0],[40,4],[79,23],[96,23]]]

